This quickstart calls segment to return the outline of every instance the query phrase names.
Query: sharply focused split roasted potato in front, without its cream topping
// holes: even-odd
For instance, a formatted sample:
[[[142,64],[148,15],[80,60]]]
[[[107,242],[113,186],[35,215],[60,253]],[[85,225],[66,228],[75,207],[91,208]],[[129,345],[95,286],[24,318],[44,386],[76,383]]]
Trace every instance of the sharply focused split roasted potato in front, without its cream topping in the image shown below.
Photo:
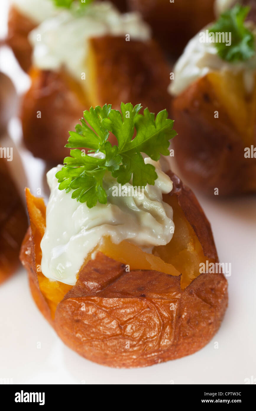
[[[224,275],[199,275],[199,262],[218,261],[210,224],[191,190],[168,175],[173,190],[164,201],[173,207],[171,242],[146,254],[129,242],[115,245],[105,238],[75,286],[51,281],[40,270],[46,210],[27,189],[30,228],[21,261],[32,296],[62,341],[96,363],[145,367],[192,354],[223,319]]]

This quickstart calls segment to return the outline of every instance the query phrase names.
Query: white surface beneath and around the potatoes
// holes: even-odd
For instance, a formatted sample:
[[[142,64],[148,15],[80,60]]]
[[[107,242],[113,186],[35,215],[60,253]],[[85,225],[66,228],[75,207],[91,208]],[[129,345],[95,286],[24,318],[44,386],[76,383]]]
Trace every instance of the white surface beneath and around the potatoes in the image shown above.
[[[5,35],[7,1],[0,2],[0,36]],[[18,92],[29,85],[12,52],[0,51],[0,70]],[[12,138],[20,125],[12,120]],[[19,149],[32,192],[42,185],[44,164]],[[15,161],[15,159],[14,159]],[[23,189],[23,187],[22,187]],[[22,268],[0,287],[0,378],[35,384],[244,384],[256,379],[256,196],[205,199],[196,192],[212,224],[219,259],[232,264],[229,306],[217,335],[201,351],[144,369],[111,369],[71,351],[44,320],[30,296]],[[37,349],[37,343],[42,345]],[[214,349],[214,342],[219,349]],[[256,381],[256,380],[255,380]]]

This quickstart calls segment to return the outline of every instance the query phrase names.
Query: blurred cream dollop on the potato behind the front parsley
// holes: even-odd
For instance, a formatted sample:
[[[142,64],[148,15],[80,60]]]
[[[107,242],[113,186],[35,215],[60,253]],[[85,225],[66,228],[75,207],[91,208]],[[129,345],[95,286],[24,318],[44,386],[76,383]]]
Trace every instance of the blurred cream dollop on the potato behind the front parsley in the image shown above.
[[[33,63],[40,69],[55,71],[64,66],[74,78],[81,80],[85,73],[86,79],[88,39],[104,35],[129,35],[146,41],[151,31],[140,14],[121,14],[110,2],[94,2],[83,14],[62,11],[33,30],[29,35]]]

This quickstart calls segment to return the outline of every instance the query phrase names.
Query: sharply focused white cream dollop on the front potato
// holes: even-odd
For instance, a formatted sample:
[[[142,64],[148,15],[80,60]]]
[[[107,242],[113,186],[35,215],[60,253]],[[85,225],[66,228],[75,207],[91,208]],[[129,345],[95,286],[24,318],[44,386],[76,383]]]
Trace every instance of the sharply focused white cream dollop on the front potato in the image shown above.
[[[51,189],[46,207],[46,231],[41,241],[42,272],[53,280],[74,285],[86,256],[109,236],[115,244],[127,240],[144,251],[166,245],[174,232],[173,209],[162,199],[163,193],[173,188],[171,179],[161,171],[159,162],[153,164],[158,175],[155,185],[146,185],[144,196],[113,196],[116,179],[106,173],[103,187],[107,204],[88,208],[85,203],[71,198],[71,192],[58,189],[55,177],[62,166],[47,173]],[[125,184],[129,190],[131,184]]]

